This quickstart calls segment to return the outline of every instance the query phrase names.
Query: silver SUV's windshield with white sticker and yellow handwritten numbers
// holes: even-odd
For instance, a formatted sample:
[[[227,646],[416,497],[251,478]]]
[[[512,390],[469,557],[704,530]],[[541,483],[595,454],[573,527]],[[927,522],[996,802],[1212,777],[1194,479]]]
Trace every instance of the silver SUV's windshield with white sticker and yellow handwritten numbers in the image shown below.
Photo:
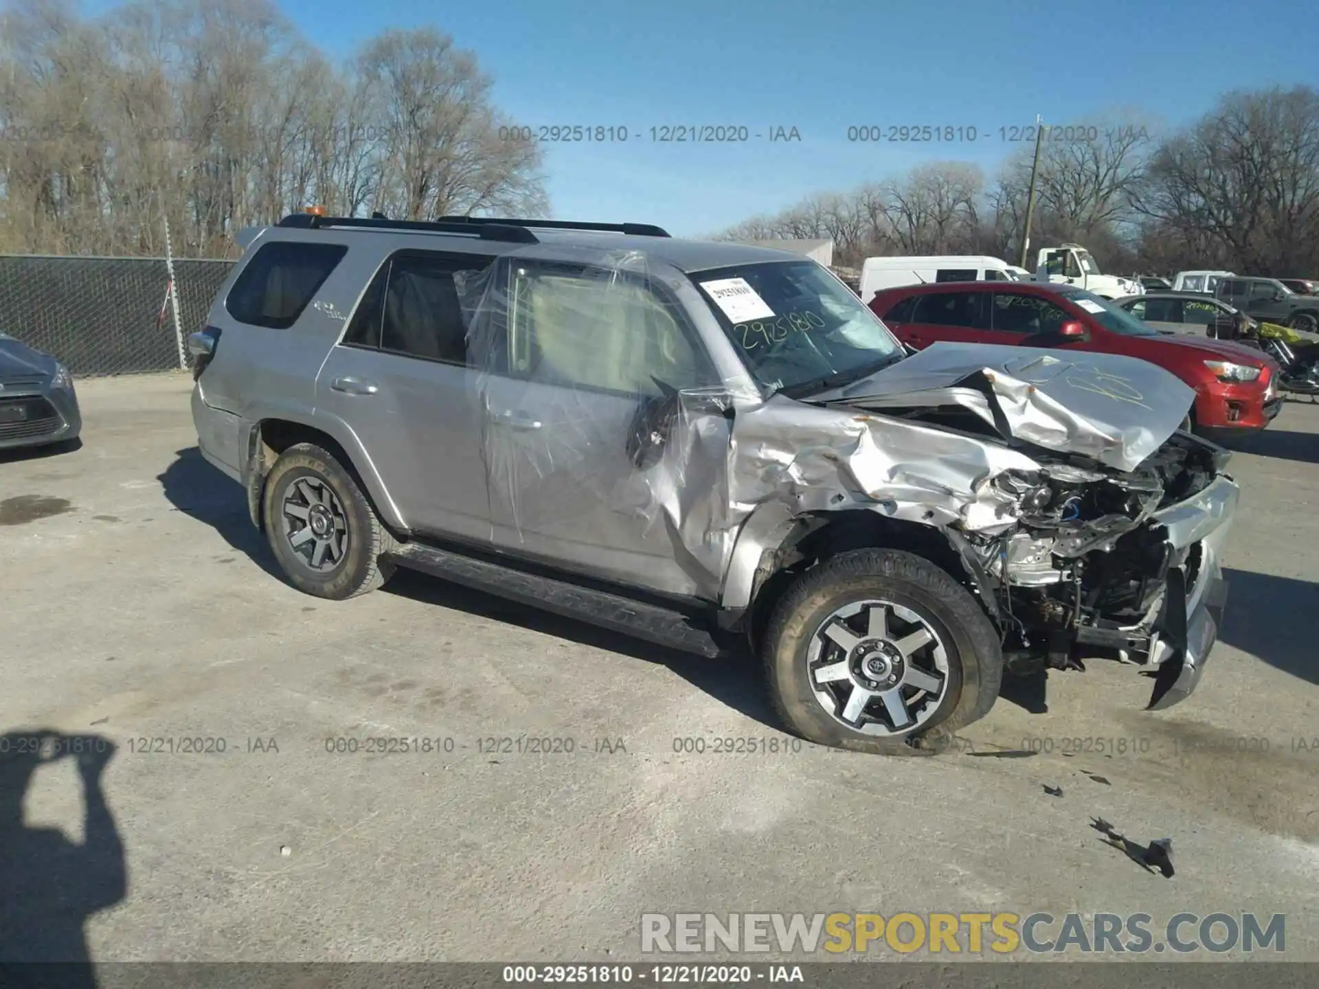
[[[809,394],[902,356],[878,316],[814,261],[736,265],[690,277],[762,388]]]

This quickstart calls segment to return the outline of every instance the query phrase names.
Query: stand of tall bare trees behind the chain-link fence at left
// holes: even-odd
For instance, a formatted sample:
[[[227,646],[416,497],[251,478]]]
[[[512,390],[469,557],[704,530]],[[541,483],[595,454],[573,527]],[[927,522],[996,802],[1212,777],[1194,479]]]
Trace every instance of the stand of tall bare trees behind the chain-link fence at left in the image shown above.
[[[272,0],[0,16],[0,251],[160,253],[164,215],[178,253],[224,255],[237,228],[311,203],[547,211],[538,146],[437,32],[368,41],[340,69]]]

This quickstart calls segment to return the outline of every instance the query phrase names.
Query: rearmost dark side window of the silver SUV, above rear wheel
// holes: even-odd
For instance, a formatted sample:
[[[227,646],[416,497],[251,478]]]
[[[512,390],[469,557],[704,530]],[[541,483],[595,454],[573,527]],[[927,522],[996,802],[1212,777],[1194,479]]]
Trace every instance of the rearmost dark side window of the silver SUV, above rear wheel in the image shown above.
[[[288,330],[346,253],[343,244],[266,244],[233,282],[224,309],[240,323]]]

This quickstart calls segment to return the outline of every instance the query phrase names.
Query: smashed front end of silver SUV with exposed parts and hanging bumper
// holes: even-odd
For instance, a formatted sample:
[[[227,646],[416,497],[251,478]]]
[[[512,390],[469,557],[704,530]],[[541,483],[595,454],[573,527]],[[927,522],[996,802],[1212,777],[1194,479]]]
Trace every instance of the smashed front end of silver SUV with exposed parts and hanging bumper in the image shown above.
[[[1113,655],[1157,670],[1151,708],[1184,699],[1227,595],[1220,560],[1240,489],[1225,459],[1186,434],[1129,475],[1046,459],[1020,526],[971,541],[1008,616],[1009,662],[1084,669]]]

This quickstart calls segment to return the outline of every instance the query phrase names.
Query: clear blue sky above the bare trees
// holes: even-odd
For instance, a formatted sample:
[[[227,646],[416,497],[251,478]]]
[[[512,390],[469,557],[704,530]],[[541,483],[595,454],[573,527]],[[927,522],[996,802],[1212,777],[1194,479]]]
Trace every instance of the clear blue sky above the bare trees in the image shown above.
[[[111,5],[104,1],[95,7]],[[474,50],[495,100],[530,125],[625,127],[551,144],[554,215],[708,233],[913,165],[975,161],[1041,113],[1140,112],[1175,127],[1219,94],[1319,84],[1319,17],[1297,0],[281,0],[348,57],[386,28],[433,25]],[[652,127],[747,127],[745,144],[658,144]],[[848,141],[857,125],[951,125],[951,144]],[[801,141],[772,142],[795,127]],[[764,135],[756,138],[754,135]],[[963,131],[968,133],[968,131]]]

